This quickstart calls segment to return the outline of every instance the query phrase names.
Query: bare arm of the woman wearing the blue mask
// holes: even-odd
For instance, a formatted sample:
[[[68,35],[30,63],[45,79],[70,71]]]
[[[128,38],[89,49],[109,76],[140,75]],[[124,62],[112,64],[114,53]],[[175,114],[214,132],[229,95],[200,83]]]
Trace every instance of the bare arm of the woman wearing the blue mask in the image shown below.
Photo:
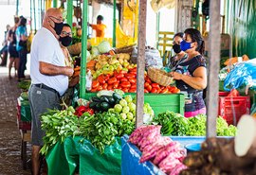
[[[206,68],[201,66],[194,70],[193,77],[172,72],[171,76],[177,80],[183,80],[189,84],[192,88],[197,90],[203,90],[207,87],[207,71]]]

